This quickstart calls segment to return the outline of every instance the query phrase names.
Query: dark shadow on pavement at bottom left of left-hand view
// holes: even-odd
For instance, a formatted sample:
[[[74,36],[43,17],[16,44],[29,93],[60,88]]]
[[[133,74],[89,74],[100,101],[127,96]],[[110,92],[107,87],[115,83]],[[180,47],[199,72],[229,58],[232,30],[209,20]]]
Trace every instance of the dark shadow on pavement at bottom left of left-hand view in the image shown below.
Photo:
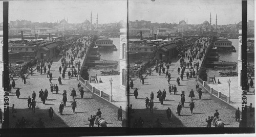
[[[56,112],[56,111],[55,111]],[[45,127],[69,127],[63,120],[60,118],[59,114],[54,112],[53,120],[50,119],[48,109],[35,109],[35,113],[32,113],[32,108],[25,109],[17,109],[17,113],[15,113],[15,117],[12,117],[12,113],[9,114],[9,124],[10,128],[14,128],[17,120],[21,120],[22,117],[27,121],[26,128],[36,127],[35,124],[39,120],[42,119]]]

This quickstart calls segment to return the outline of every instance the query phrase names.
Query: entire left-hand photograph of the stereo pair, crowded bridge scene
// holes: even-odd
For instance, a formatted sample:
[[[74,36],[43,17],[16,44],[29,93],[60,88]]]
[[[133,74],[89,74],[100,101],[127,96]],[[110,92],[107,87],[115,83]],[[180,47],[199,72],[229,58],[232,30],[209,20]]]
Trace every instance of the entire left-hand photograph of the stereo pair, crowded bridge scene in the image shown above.
[[[7,6],[8,29],[0,14],[6,121],[4,98],[0,108],[6,128],[126,127],[127,2],[10,1]]]

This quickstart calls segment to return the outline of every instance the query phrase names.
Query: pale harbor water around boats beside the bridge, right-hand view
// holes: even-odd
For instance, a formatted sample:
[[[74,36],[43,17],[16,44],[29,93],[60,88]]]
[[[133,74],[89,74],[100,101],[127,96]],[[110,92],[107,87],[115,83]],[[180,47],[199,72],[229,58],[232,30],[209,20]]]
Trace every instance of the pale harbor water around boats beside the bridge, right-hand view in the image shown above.
[[[248,38],[248,39],[254,39],[254,38]],[[220,56],[220,61],[228,61],[228,62],[236,62],[238,63],[238,39],[228,39],[232,41],[232,45],[236,48],[237,52],[217,52]],[[250,63],[250,65],[254,64],[254,58],[247,58],[247,62]],[[233,69],[207,69],[206,74],[208,77],[220,77],[220,71],[238,71],[238,66]]]

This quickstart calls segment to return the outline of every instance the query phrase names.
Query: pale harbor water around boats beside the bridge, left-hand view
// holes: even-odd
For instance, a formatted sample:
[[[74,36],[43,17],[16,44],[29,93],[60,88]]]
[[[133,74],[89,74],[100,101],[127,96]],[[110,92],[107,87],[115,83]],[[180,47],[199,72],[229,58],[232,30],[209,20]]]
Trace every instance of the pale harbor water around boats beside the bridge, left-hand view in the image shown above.
[[[118,61],[118,65],[117,67],[111,67],[111,68],[89,68],[88,69],[88,73],[89,73],[89,77],[91,76],[95,76],[97,74],[97,76],[102,75],[102,73],[100,71],[111,71],[111,70],[118,70],[119,71],[119,56],[120,56],[120,39],[119,38],[110,38],[111,40],[113,40],[114,45],[117,48],[117,51],[102,51],[100,50],[100,60],[110,60],[110,61]],[[99,79],[98,79],[99,80]]]

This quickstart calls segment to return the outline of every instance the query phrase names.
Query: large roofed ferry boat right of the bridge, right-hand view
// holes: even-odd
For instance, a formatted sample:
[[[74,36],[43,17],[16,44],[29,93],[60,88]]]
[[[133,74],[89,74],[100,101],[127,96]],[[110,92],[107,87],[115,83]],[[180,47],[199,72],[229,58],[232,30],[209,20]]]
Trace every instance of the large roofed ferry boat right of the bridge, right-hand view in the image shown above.
[[[214,47],[217,51],[237,51],[232,45],[232,42],[225,38],[218,38],[217,41],[214,42]]]

